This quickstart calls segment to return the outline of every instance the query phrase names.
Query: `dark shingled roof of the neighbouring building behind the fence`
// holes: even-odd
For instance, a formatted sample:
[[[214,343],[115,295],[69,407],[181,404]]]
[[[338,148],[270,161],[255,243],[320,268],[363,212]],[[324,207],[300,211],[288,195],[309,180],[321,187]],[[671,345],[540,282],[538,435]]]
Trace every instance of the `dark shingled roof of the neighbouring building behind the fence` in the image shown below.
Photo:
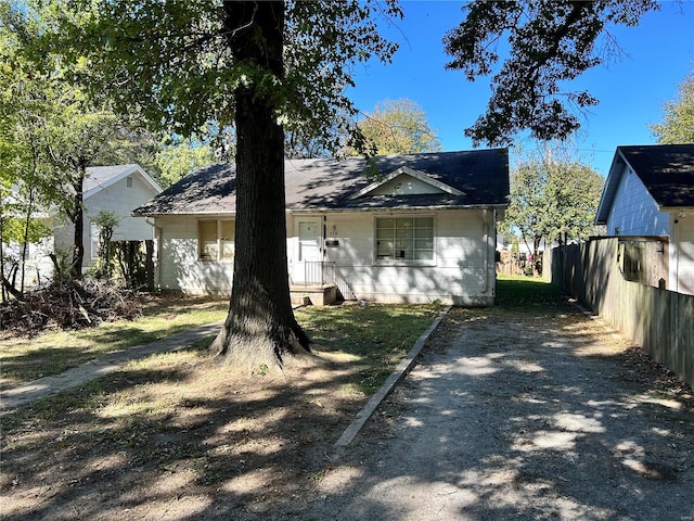
[[[658,207],[694,207],[694,144],[617,147],[597,209],[597,224],[606,223],[625,165],[646,188]]]

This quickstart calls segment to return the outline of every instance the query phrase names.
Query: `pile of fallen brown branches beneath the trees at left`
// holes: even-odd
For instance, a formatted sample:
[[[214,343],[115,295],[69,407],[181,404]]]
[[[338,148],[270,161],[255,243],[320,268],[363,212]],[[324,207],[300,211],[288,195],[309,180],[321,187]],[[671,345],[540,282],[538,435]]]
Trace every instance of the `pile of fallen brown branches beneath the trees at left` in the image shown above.
[[[49,328],[80,329],[141,315],[132,290],[91,279],[68,280],[0,304],[0,331],[34,335]]]

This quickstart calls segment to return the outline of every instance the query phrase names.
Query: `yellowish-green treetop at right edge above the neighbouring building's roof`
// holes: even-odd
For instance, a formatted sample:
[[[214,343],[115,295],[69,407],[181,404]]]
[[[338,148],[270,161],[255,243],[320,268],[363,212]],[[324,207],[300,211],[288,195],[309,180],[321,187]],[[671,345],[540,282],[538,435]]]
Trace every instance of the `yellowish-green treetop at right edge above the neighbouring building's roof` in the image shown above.
[[[694,143],[694,71],[682,81],[677,99],[663,106],[663,120],[651,130],[660,144]]]

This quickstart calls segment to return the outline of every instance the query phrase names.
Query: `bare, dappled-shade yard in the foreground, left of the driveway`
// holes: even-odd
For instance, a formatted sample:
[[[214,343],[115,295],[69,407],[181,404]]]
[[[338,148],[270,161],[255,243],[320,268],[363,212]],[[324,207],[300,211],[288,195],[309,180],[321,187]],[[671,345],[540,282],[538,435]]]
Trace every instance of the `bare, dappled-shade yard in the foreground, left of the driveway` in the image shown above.
[[[363,403],[354,361],[237,374],[201,353],[131,364],[2,418],[2,518],[253,519],[306,507]],[[204,517],[203,517],[204,519]]]

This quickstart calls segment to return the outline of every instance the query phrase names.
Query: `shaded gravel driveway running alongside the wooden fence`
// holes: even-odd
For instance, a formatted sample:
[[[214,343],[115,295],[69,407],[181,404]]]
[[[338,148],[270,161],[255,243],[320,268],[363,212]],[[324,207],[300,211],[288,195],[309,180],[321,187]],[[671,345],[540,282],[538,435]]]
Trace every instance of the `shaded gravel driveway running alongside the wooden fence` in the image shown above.
[[[691,389],[570,309],[441,329],[303,519],[694,520]]]

